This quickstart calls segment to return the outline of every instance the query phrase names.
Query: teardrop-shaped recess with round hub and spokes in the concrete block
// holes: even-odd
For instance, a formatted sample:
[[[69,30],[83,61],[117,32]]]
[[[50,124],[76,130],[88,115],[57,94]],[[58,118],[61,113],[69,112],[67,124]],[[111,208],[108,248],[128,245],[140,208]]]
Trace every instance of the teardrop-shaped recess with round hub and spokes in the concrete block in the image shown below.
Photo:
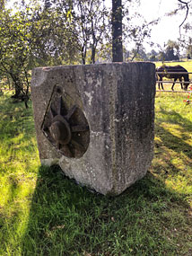
[[[90,128],[82,107],[58,85],[53,89],[41,130],[67,157],[80,158],[89,146]]]

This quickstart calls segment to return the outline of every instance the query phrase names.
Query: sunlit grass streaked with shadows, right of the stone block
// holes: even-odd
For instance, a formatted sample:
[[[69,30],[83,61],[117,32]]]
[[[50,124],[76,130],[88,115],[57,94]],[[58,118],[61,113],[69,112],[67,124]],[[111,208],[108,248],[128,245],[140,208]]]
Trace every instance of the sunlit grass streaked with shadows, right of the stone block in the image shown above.
[[[163,179],[169,189],[192,195],[192,105],[183,102],[183,94],[169,95],[157,93],[156,97],[158,158],[153,163],[166,172]],[[192,204],[192,198],[189,201]]]

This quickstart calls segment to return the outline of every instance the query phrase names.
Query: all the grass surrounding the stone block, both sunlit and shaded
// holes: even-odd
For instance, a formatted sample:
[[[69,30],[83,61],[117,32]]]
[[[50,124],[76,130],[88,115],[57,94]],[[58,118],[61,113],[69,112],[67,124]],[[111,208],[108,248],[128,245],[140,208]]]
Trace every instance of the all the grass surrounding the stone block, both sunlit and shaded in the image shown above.
[[[192,105],[157,93],[152,167],[115,198],[43,167],[32,110],[0,96],[0,255],[192,255]]]

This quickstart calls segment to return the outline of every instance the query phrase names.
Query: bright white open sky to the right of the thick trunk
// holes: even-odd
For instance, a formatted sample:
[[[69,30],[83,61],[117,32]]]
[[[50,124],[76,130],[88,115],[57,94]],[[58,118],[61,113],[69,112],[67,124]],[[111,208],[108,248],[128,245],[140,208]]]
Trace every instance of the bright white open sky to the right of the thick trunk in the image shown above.
[[[108,4],[112,2],[111,0],[106,1]],[[178,0],[140,0],[140,3],[136,11],[141,13],[147,22],[161,18],[161,21],[152,27],[151,40],[154,43],[160,44],[163,48],[168,40],[179,39],[179,25],[185,18],[185,11],[176,16],[165,16],[166,13],[170,13],[178,7]],[[147,44],[144,44],[144,48],[147,51],[151,50]]]

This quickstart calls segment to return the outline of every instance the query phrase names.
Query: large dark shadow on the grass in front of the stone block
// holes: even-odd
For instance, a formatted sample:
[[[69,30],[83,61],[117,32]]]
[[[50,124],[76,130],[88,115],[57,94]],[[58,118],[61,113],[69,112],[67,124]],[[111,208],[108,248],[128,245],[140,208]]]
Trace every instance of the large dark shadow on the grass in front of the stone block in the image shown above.
[[[190,248],[187,209],[182,196],[150,173],[110,198],[76,185],[57,166],[41,167],[22,253],[184,255]]]

